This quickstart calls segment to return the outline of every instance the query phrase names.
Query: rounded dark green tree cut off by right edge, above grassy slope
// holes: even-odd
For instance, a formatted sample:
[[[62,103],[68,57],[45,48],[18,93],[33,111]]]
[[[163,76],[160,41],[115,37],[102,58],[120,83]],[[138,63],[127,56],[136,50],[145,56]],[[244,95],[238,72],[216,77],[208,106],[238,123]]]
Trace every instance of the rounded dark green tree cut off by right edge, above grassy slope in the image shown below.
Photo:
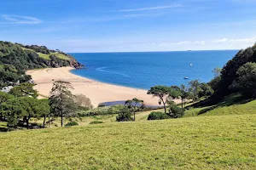
[[[248,62],[242,65],[236,72],[237,79],[232,83],[230,88],[238,90],[247,98],[256,97],[256,63]]]

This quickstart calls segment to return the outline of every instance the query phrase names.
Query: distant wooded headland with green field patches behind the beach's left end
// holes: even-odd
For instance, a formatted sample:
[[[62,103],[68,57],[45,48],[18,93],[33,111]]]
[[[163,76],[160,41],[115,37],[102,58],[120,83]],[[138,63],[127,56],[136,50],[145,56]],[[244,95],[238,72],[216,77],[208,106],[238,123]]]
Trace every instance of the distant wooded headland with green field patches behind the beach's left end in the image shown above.
[[[83,65],[59,50],[0,41],[0,88],[27,82],[30,77],[25,75],[26,70],[61,66],[81,68]]]

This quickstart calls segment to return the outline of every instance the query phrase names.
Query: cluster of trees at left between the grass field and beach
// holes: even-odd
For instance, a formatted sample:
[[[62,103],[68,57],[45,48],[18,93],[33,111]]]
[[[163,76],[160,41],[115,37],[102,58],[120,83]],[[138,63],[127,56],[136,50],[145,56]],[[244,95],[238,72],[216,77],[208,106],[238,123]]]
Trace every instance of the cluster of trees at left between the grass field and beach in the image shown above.
[[[49,99],[37,99],[38,92],[33,84],[22,83],[10,92],[0,92],[0,119],[8,122],[9,129],[17,127],[32,128],[32,118],[44,119],[42,127],[48,127],[61,117],[61,127],[64,119],[69,122],[78,119],[78,110],[92,108],[90,99],[83,94],[73,95],[70,82],[54,82]]]

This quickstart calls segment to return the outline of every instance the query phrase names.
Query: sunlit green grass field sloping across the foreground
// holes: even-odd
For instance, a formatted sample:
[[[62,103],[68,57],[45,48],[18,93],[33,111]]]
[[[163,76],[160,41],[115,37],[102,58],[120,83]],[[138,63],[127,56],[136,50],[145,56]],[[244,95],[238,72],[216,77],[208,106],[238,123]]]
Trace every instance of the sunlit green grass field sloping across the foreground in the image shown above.
[[[0,133],[3,169],[255,169],[256,115]]]

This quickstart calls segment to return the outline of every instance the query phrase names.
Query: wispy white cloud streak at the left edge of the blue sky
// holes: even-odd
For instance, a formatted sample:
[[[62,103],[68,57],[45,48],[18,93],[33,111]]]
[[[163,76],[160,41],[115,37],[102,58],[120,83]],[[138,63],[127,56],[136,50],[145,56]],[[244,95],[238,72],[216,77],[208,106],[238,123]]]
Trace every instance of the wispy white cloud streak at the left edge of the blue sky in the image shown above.
[[[34,25],[40,24],[42,20],[39,20],[30,16],[2,14],[0,15],[0,24],[26,24]]]

